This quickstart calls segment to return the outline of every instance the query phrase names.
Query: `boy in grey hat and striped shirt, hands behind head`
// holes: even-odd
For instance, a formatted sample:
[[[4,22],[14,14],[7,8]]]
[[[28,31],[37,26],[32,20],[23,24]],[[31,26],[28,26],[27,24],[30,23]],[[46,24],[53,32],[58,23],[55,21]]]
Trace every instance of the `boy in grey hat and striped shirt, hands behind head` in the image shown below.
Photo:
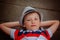
[[[19,22],[7,22],[0,24],[0,29],[10,35],[14,40],[50,40],[59,25],[58,20],[41,22],[40,13],[32,7],[26,7]],[[23,29],[12,29],[14,26],[22,26]],[[41,27],[50,26],[42,30]]]

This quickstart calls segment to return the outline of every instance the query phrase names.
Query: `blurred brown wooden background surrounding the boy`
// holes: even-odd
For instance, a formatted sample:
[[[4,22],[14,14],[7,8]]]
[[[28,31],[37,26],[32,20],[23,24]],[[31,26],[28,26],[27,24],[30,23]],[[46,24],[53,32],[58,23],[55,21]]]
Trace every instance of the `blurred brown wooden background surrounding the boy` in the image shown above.
[[[0,0],[0,23],[18,21],[22,10],[32,6],[43,14],[45,20],[60,20],[60,0]],[[60,27],[51,40],[60,40]],[[12,40],[0,30],[0,40]]]

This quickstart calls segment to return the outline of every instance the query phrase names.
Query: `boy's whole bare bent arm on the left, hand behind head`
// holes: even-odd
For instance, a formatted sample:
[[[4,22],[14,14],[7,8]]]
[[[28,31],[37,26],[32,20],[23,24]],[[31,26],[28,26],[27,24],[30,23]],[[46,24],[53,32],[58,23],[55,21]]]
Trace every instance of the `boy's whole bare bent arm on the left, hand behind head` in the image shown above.
[[[6,22],[0,24],[0,29],[2,29],[6,34],[10,35],[11,27],[20,26],[19,22]]]

